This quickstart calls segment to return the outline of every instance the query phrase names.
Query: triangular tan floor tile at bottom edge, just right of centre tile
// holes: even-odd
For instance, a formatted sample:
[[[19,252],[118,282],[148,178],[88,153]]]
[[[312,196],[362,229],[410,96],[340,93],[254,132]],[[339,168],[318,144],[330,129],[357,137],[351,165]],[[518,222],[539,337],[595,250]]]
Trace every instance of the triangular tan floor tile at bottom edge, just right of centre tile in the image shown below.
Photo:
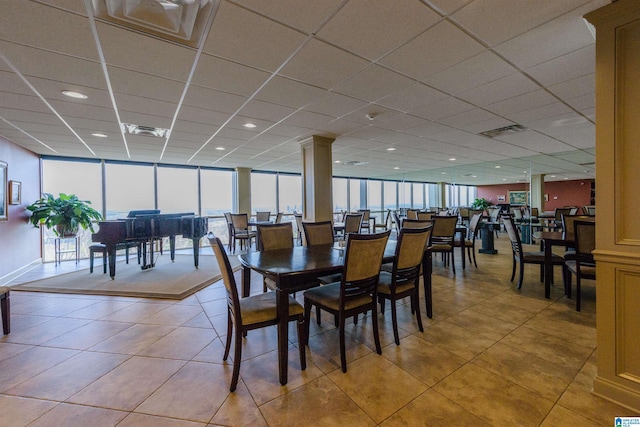
[[[381,427],[489,426],[480,418],[431,389],[387,418]]]

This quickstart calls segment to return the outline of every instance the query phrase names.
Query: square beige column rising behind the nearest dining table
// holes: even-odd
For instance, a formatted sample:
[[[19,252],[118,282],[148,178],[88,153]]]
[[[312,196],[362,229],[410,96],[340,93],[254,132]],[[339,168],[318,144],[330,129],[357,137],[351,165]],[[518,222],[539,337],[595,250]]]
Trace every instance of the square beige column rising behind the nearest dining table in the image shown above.
[[[304,221],[333,219],[333,141],[318,135],[300,141]]]

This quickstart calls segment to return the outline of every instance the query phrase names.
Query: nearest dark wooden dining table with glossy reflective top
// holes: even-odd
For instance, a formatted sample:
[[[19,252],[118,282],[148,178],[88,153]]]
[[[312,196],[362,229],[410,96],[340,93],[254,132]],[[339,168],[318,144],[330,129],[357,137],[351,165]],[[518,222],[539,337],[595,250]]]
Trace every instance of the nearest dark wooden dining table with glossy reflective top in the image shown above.
[[[278,367],[280,384],[287,383],[289,354],[289,294],[315,286],[317,278],[342,272],[344,268],[344,247],[338,245],[318,245],[273,251],[248,252],[239,255],[242,265],[242,296],[249,296],[251,270],[270,278],[275,283],[276,310],[278,313]],[[396,241],[389,240],[382,258],[383,263],[395,258]],[[433,317],[431,295],[431,248],[425,248],[422,260],[423,286],[427,317]]]

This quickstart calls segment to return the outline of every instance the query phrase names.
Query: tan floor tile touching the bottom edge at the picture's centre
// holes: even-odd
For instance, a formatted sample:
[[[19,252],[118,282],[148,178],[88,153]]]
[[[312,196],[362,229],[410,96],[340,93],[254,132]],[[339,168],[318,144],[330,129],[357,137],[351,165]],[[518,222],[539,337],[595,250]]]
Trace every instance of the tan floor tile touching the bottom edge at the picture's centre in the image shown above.
[[[260,407],[270,426],[374,426],[376,423],[326,377],[319,378]]]

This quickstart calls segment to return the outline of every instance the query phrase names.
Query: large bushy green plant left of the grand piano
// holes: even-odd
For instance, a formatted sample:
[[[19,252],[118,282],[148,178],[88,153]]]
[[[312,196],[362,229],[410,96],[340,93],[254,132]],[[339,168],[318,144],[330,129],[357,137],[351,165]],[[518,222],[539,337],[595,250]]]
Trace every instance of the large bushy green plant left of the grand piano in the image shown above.
[[[27,206],[31,212],[29,222],[36,228],[44,225],[53,229],[58,237],[75,236],[80,227],[93,232],[93,220],[99,221],[102,215],[93,209],[90,201],[80,200],[75,194],[60,193],[59,197],[44,193],[44,197]]]

